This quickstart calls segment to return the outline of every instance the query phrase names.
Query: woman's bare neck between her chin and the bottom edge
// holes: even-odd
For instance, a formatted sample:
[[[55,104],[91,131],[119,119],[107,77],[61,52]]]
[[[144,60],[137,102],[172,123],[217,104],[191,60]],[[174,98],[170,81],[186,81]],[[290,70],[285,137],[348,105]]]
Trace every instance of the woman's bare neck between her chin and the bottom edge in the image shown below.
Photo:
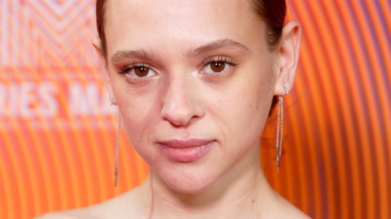
[[[259,148],[254,150],[213,185],[197,193],[175,191],[151,170],[146,183],[151,184],[152,217],[253,217],[262,206],[266,210],[274,192],[260,167]]]

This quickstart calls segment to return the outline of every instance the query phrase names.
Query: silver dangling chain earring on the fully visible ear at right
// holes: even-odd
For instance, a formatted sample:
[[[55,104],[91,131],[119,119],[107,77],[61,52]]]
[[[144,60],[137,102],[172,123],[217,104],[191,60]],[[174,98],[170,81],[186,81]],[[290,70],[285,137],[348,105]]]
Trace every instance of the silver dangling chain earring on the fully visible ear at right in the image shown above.
[[[285,93],[289,94],[286,83],[284,82]],[[277,172],[280,172],[280,160],[282,153],[282,135],[284,128],[284,100],[282,96],[278,96],[278,112],[277,112],[277,137],[276,137],[276,163]]]

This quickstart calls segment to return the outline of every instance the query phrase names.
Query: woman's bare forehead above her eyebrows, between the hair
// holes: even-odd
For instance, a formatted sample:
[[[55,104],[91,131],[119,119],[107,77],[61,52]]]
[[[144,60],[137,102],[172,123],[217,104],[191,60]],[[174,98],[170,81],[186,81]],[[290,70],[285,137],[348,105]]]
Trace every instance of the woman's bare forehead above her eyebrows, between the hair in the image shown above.
[[[110,50],[206,43],[230,38],[243,44],[263,37],[264,23],[249,1],[106,2],[105,34]]]

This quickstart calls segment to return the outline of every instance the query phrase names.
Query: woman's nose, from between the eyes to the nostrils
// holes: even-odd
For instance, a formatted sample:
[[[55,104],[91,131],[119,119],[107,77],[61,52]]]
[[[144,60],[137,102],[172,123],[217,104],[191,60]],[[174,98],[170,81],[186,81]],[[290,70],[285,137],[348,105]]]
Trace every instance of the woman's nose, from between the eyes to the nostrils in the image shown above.
[[[174,126],[186,126],[204,116],[194,79],[191,75],[173,75],[167,79],[162,93],[163,120]]]

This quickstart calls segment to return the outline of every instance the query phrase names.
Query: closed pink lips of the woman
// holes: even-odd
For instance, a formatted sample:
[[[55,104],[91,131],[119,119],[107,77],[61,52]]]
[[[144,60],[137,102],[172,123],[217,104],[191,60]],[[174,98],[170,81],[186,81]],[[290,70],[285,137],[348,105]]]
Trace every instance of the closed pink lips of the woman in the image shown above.
[[[169,158],[179,162],[191,162],[207,154],[214,146],[215,140],[174,139],[159,141],[157,143]]]

